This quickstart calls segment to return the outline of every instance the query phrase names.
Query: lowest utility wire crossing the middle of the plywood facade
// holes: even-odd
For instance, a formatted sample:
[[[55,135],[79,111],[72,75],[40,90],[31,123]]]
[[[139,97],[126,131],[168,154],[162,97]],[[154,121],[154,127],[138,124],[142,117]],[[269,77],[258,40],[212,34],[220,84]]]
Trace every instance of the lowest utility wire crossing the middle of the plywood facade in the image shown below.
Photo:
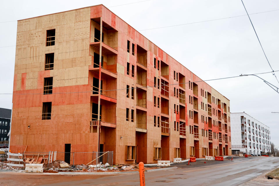
[[[276,71],[270,71],[270,72],[262,72],[262,73],[257,73],[257,74],[268,74],[272,72],[277,72]],[[248,74],[248,75],[257,75],[257,74]],[[198,83],[198,82],[205,82],[205,81],[214,81],[214,80],[220,80],[220,79],[228,79],[228,78],[237,78],[237,77],[242,77],[242,76],[231,76],[231,77],[226,77],[226,78],[217,78],[217,79],[209,79],[209,80],[201,80],[201,81],[193,81],[193,82],[185,82],[185,83],[175,83],[175,84],[169,84],[169,85],[181,85],[181,84],[189,84],[189,83]],[[156,85],[156,86],[142,86],[142,87],[135,87],[135,88],[122,88],[122,89],[114,89],[114,90],[101,90],[101,91],[89,91],[89,92],[108,92],[108,91],[118,91],[118,90],[128,90],[128,89],[137,89],[137,88],[149,88],[149,87],[162,87],[162,86],[169,86],[169,85]],[[52,94],[73,94],[73,93],[89,93],[89,92],[55,92]],[[0,93],[0,95],[32,95],[34,93],[25,93],[25,94],[14,94],[14,93]],[[37,94],[44,94],[44,93],[37,93]]]

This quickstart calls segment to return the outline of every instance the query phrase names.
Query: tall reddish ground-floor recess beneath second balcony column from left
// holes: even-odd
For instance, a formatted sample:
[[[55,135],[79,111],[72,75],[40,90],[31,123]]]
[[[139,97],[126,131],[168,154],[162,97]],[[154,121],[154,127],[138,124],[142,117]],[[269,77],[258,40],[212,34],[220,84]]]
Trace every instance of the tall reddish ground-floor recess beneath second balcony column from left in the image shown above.
[[[136,162],[147,162],[147,133],[136,131],[136,147],[137,156]],[[144,152],[144,153],[143,153]]]

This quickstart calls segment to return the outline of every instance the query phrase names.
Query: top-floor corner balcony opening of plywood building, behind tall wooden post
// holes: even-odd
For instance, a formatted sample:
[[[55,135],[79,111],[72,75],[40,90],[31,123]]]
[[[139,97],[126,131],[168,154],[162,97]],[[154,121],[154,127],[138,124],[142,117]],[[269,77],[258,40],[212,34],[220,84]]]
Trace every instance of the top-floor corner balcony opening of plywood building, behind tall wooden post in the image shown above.
[[[91,19],[91,38],[90,42],[100,42],[101,35],[101,20],[100,18]],[[106,24],[102,23],[102,42],[117,50],[118,46],[118,31]]]

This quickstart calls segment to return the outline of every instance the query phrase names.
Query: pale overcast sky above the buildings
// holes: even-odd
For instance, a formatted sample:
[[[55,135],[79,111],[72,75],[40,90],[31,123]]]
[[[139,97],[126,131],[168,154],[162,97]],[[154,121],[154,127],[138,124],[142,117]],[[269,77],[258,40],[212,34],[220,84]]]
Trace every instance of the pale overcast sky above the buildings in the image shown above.
[[[167,1],[2,1],[0,12],[0,93],[12,93],[17,22],[86,6],[104,4],[203,80],[271,71],[241,0]],[[78,2],[78,3],[77,3]],[[133,3],[138,2],[138,3]],[[133,3],[123,5],[126,3]],[[117,6],[121,5],[121,6]],[[279,70],[279,1],[244,0],[267,58]],[[271,11],[270,10],[278,10]],[[221,19],[226,17],[234,17]],[[202,22],[212,19],[215,21]],[[13,22],[7,22],[13,21]],[[187,24],[201,22],[195,24]],[[7,47],[13,46],[13,47]],[[279,78],[279,72],[276,72]],[[260,75],[279,87],[275,77]],[[271,141],[279,146],[279,94],[255,76],[207,81],[230,100],[231,112],[243,112],[271,129]],[[0,95],[0,107],[12,107],[12,95]]]

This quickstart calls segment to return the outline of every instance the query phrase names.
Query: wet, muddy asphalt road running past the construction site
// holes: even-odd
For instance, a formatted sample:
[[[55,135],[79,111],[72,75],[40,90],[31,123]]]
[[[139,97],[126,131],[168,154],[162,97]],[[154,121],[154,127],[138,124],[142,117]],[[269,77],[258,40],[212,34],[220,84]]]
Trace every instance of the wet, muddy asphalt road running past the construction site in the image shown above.
[[[203,160],[204,161],[204,160]],[[204,162],[203,162],[204,163]],[[183,166],[183,164],[185,164]],[[233,161],[227,160],[210,165],[199,167],[187,167],[186,163],[179,165],[178,169],[146,172],[146,185],[239,185],[253,181],[257,176],[262,176],[279,167],[279,157],[254,157],[235,158]],[[191,163],[192,165],[194,163]],[[201,162],[197,162],[197,165]],[[14,175],[17,174],[17,175]],[[1,180],[9,179],[10,183],[16,185],[140,185],[139,174],[119,174],[119,175],[40,175],[20,173],[0,173]],[[26,181],[24,178],[27,178]],[[255,179],[254,179],[255,178]],[[264,178],[262,178],[264,179]],[[31,181],[34,181],[31,183]],[[250,182],[251,182],[250,181]],[[1,181],[0,181],[1,182]],[[28,184],[30,182],[30,184]],[[3,185],[6,185],[2,182]],[[2,185],[1,184],[1,185]],[[9,184],[12,185],[12,184]],[[250,185],[250,184],[249,184]],[[253,184],[254,185],[254,184]],[[275,185],[279,185],[279,181]]]

